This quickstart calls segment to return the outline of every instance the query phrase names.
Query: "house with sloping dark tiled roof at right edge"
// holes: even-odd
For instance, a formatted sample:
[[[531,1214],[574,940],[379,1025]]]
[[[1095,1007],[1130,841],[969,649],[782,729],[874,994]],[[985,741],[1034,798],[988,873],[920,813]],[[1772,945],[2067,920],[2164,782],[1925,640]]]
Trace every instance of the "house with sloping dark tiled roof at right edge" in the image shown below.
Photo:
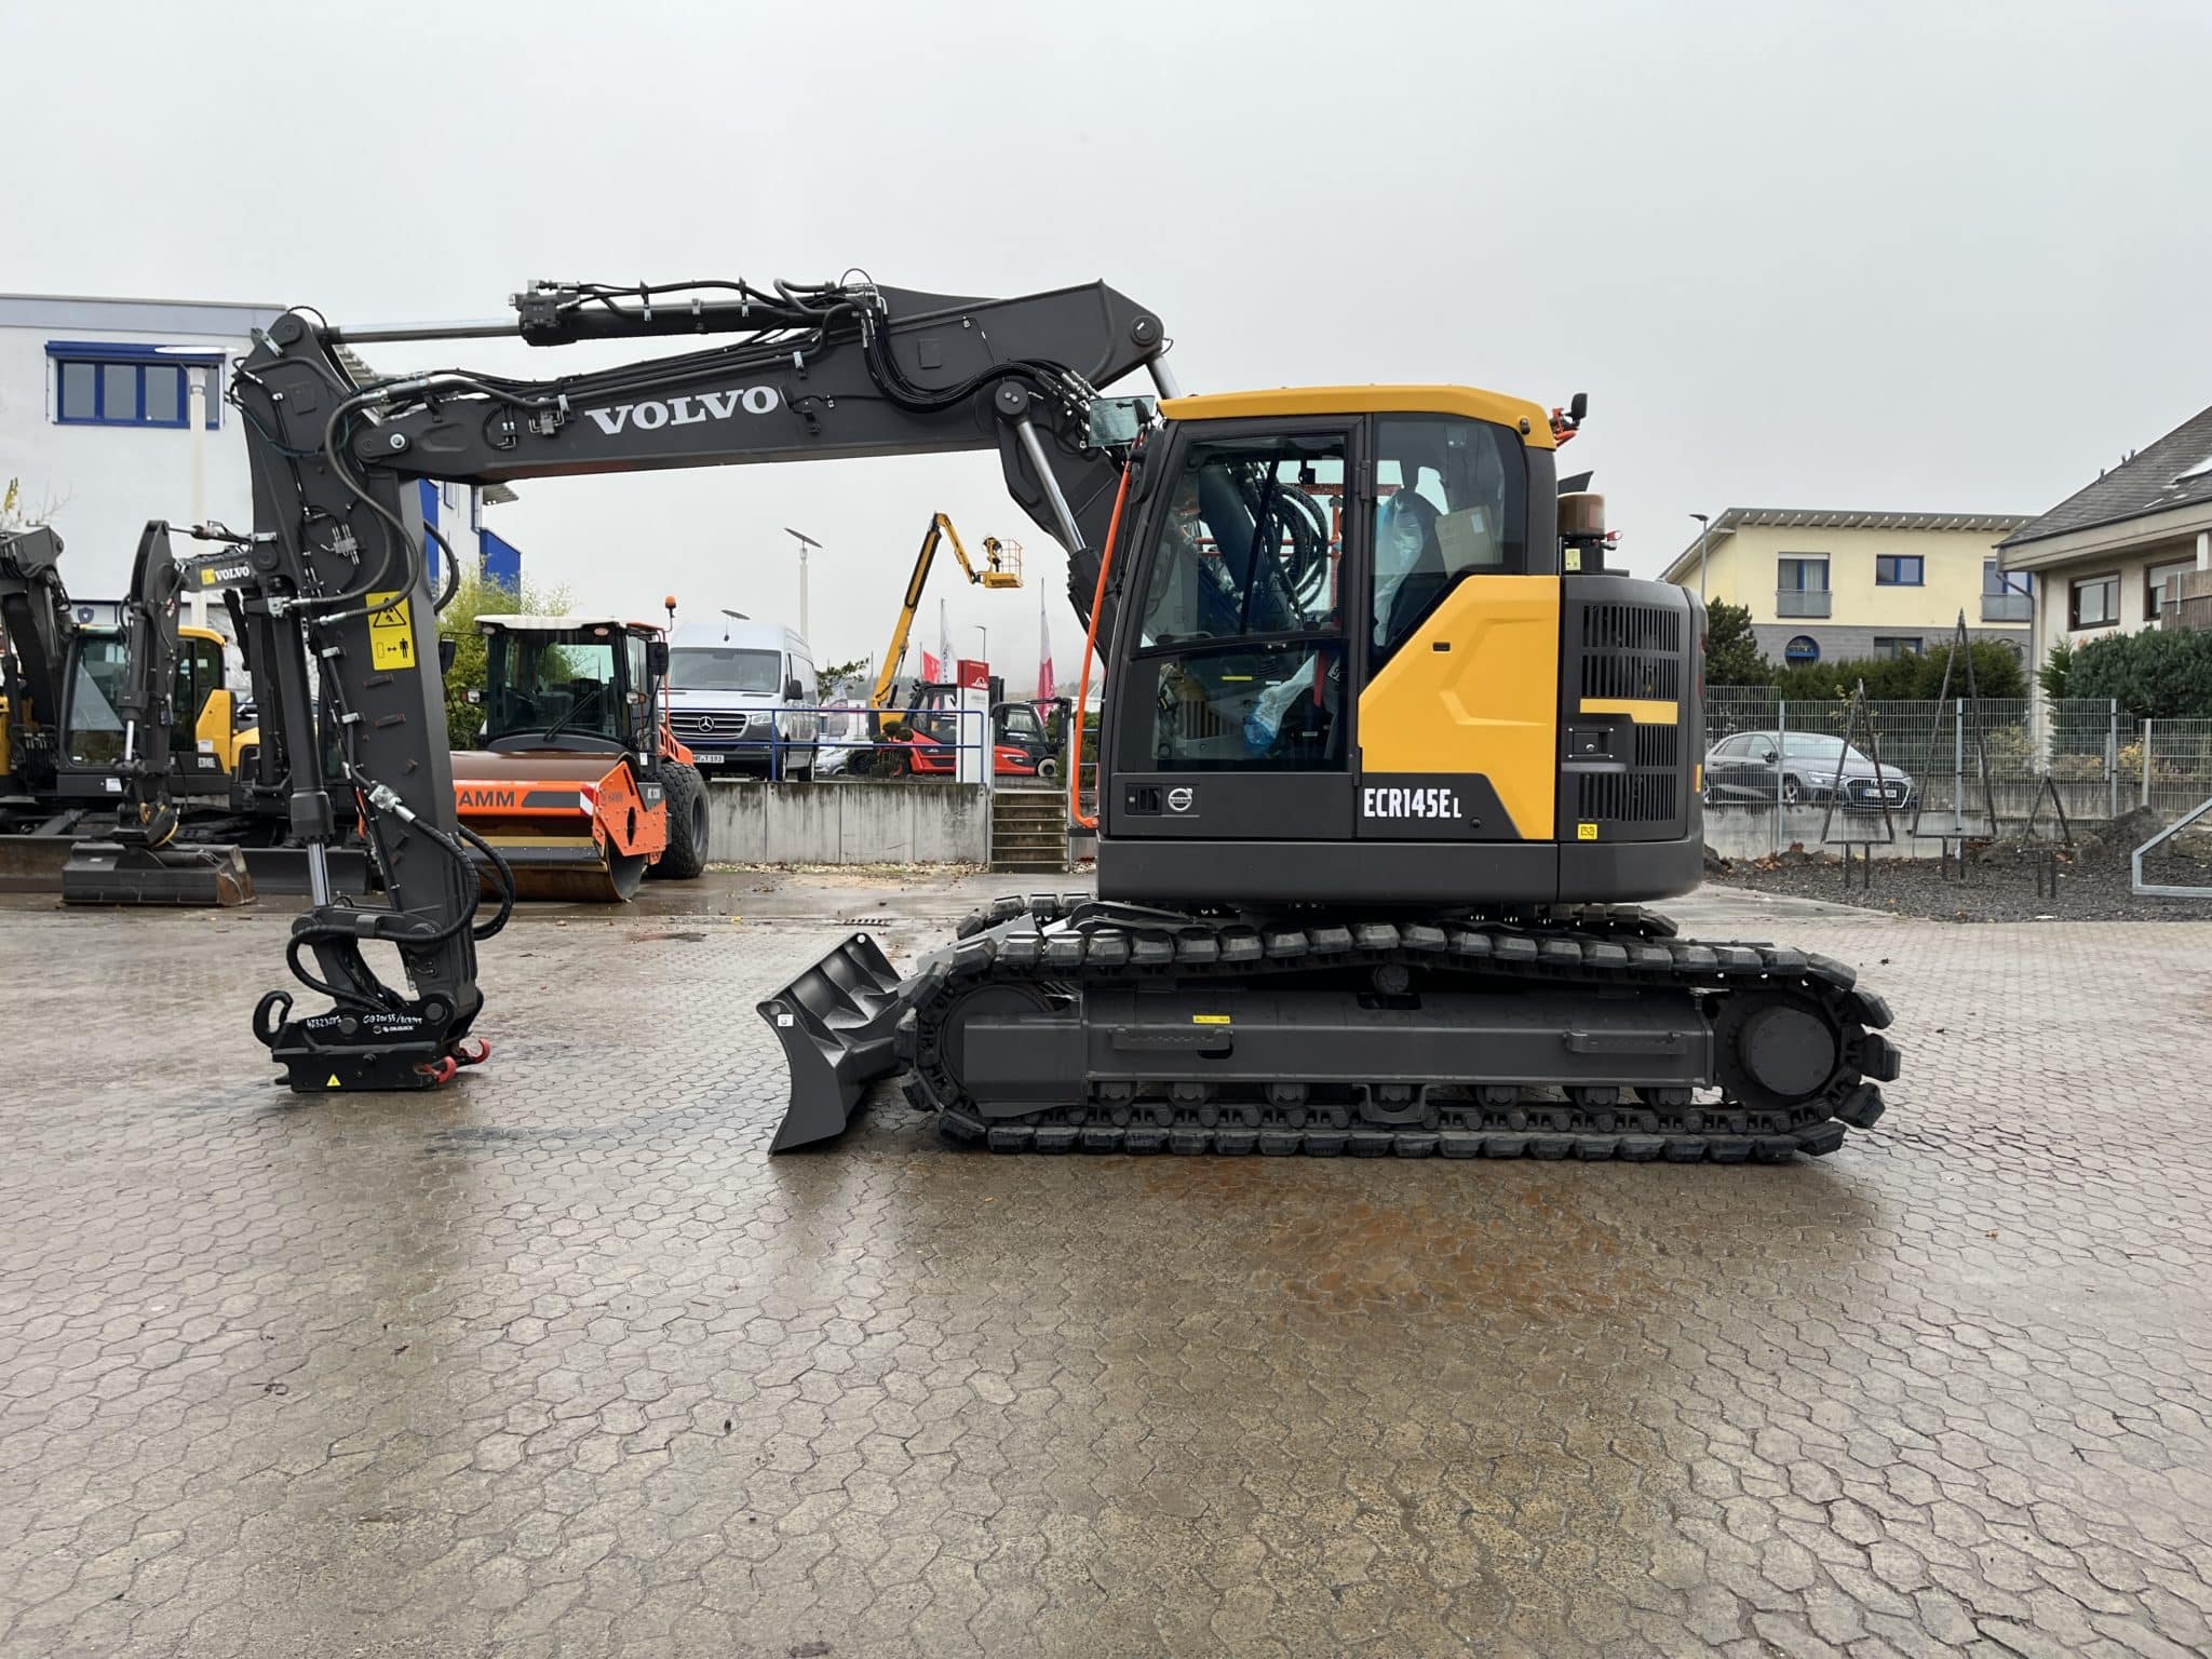
[[[2037,586],[2035,661],[2177,619],[2183,577],[2212,571],[2212,409],[2099,473],[2004,538],[2004,568]],[[2212,577],[2188,586],[2203,586]]]

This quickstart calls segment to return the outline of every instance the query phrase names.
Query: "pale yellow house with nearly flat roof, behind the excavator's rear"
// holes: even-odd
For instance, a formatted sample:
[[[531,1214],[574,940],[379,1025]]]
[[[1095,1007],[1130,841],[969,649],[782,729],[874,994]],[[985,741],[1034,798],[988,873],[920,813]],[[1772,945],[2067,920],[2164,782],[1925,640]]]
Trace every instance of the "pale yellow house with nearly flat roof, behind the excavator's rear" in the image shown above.
[[[1997,566],[2020,513],[1851,513],[1730,507],[1668,564],[1708,602],[1752,613],[1778,664],[1865,661],[1940,648],[1960,615],[1975,639],[2026,650],[2033,580]]]

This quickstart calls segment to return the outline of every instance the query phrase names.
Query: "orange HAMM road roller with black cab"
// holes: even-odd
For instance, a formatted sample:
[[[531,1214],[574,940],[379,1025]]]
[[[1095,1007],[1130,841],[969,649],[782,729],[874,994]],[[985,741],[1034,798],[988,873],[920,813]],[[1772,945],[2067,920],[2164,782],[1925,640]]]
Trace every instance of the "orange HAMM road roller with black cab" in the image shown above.
[[[668,637],[622,617],[478,617],[484,726],[453,754],[460,823],[518,898],[624,902],[706,867],[706,785],[668,730]],[[489,854],[478,854],[487,887]]]

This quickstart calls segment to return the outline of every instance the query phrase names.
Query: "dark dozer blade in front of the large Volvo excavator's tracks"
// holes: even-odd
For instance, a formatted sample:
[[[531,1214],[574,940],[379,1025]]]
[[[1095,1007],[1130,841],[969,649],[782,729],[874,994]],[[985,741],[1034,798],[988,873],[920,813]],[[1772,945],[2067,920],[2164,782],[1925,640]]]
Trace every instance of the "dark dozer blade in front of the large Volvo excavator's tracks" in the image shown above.
[[[867,933],[854,933],[761,1004],[783,1040],[792,1099],[770,1152],[845,1133],[872,1082],[898,1071],[898,971]]]

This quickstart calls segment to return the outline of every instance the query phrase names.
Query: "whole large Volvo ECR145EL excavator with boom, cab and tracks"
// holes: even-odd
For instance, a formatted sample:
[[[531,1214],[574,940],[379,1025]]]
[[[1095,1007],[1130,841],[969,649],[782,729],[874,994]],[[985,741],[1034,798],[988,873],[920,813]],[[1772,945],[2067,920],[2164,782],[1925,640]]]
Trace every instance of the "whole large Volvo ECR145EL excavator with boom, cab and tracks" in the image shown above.
[[[356,385],[336,358],[482,336],[690,345],[540,380]],[[1703,611],[1606,571],[1601,502],[1555,469],[1584,400],[1183,396],[1166,349],[1104,283],[535,283],[480,323],[276,319],[234,387],[241,602],[292,723],[319,688],[338,728],[327,774],[294,754],[292,827],[321,847],[354,794],[389,898],[316,878],[290,964],[327,1004],[254,1011],[290,1084],[427,1088],[484,1057],[500,916],[453,818],[414,480],[995,449],[1106,666],[1097,891],[1004,900],[907,978],[856,933],[768,995],[774,1150],[896,1071],[1006,1152],[1739,1161],[1871,1124],[1898,1073],[1880,995],[1646,909],[1703,867]],[[1139,372],[1157,400],[1110,392]]]

